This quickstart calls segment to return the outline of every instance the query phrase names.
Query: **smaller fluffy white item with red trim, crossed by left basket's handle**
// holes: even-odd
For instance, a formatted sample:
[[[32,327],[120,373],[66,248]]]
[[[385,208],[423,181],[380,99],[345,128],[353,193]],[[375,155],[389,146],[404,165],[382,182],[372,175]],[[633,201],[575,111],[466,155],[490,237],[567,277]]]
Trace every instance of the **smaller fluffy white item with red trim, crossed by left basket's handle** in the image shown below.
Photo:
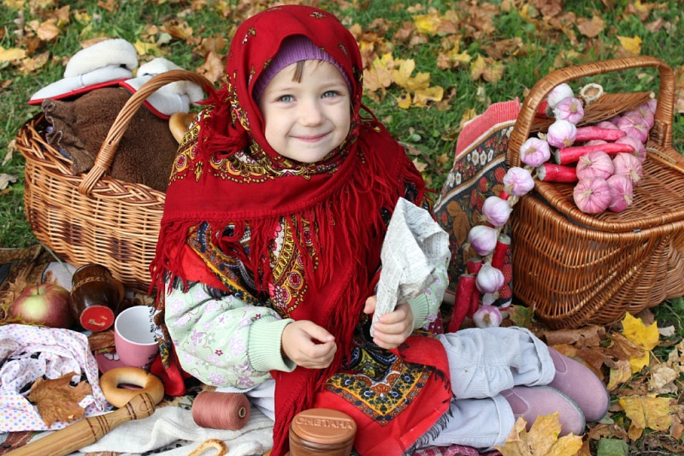
[[[181,70],[172,61],[157,57],[148,63],[144,63],[138,68],[137,77],[123,81],[121,86],[132,92],[137,92],[144,83],[152,79],[155,75],[170,70]],[[195,103],[204,98],[204,92],[200,86],[190,81],[176,81],[168,83],[157,89],[152,95],[145,99],[145,104],[151,106],[165,116],[170,116],[174,112],[190,111],[190,103]]]

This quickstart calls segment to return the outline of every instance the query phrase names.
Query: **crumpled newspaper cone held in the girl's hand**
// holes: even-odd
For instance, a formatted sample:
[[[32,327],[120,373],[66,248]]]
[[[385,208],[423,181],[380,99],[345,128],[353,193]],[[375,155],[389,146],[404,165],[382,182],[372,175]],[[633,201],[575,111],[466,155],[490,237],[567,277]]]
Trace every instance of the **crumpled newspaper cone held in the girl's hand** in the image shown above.
[[[449,235],[430,212],[399,198],[380,253],[382,270],[377,287],[373,324],[396,304],[425,292],[437,277],[437,265],[450,258]],[[371,326],[370,334],[373,334]]]

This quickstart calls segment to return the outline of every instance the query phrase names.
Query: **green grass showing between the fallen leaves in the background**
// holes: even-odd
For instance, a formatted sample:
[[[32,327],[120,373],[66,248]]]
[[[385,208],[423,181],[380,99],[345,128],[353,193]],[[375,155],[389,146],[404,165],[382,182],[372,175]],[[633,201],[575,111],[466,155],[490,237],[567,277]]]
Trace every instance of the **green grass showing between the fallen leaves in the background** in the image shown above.
[[[15,2],[16,3],[16,2]],[[47,4],[41,10],[37,5]],[[54,1],[52,2],[54,3]],[[80,43],[86,39],[99,36],[120,37],[135,42],[141,39],[146,26],[162,26],[165,21],[179,18],[185,20],[194,30],[194,37],[211,37],[222,34],[229,39],[235,26],[248,14],[267,6],[268,1],[255,1],[253,3],[237,2],[236,0],[218,1],[208,0],[203,8],[194,10],[190,1],[157,0],[120,1],[119,7],[110,12],[105,10],[94,1],[70,1],[59,2],[56,6],[50,1],[30,0],[26,1],[24,17],[26,23],[30,21],[43,21],[55,8],[66,4],[70,5],[70,21],[63,27],[59,37],[50,42],[42,43],[37,53],[50,51],[51,60],[48,64],[28,75],[22,75],[16,66],[8,63],[0,63],[0,82],[11,81],[5,88],[0,89],[0,159],[5,157],[8,143],[14,137],[21,124],[39,112],[39,108],[26,105],[26,101],[33,92],[46,86],[48,83],[57,81],[63,72],[62,61],[77,52]],[[436,56],[443,51],[440,36],[430,36],[427,43],[419,46],[408,47],[406,43],[394,42],[392,35],[401,27],[402,21],[412,21],[416,14],[425,14],[427,8],[433,7],[443,14],[448,9],[455,10],[459,19],[467,19],[477,24],[477,19],[469,17],[467,2],[455,2],[445,0],[432,0],[423,2],[425,10],[419,13],[408,12],[407,7],[417,2],[399,1],[352,1],[348,7],[341,8],[338,2],[321,1],[318,5],[323,9],[335,12],[347,25],[359,23],[364,31],[372,31],[370,24],[377,18],[385,18],[389,29],[383,39],[395,59],[415,59],[416,69],[430,72],[433,86],[439,85],[448,94],[452,88],[456,89],[456,95],[450,102],[447,110],[430,108],[410,108],[403,110],[396,106],[396,97],[401,95],[402,90],[396,86],[390,87],[388,94],[381,103],[375,103],[366,99],[368,106],[376,113],[379,119],[386,121],[390,132],[398,139],[410,143],[427,157],[427,160],[435,162],[436,157],[443,154],[450,155],[456,143],[456,134],[459,130],[461,118],[466,110],[474,109],[481,113],[487,108],[489,101],[507,101],[519,97],[524,98],[525,90],[534,86],[543,75],[547,74],[553,66],[556,57],[562,52],[574,50],[578,52],[576,58],[565,62],[586,63],[597,59],[607,59],[616,56],[618,50],[617,36],[638,36],[643,40],[641,54],[659,57],[670,64],[673,68],[684,65],[684,56],[681,52],[675,52],[681,48],[684,41],[684,27],[681,26],[681,7],[678,1],[670,0],[661,2],[667,8],[655,8],[645,21],[641,21],[633,14],[627,13],[629,2],[627,0],[615,0],[612,10],[605,10],[603,2],[579,0],[565,2],[565,12],[572,12],[576,17],[591,18],[593,14],[601,14],[605,23],[605,29],[596,39],[586,39],[574,26],[572,21],[566,21],[566,30],[548,29],[543,30],[547,21],[531,23],[525,20],[519,12],[513,8],[510,12],[501,10],[501,1],[492,1],[499,12],[494,15],[493,23],[495,32],[483,34],[477,38],[469,35],[465,28],[460,31],[463,35],[461,50],[467,50],[472,57],[484,54],[486,46],[501,39],[520,37],[524,43],[524,49],[514,57],[505,57],[505,72],[497,83],[490,83],[479,79],[473,81],[470,77],[470,68],[461,66],[455,70],[439,70],[436,68]],[[480,2],[482,5],[484,2]],[[520,4],[523,2],[512,1]],[[86,12],[90,15],[87,21],[74,19],[74,12]],[[17,39],[14,33],[17,25],[19,12],[12,10],[3,2],[0,5],[0,46],[3,48],[25,48],[25,44]],[[537,18],[539,19],[539,18]],[[659,30],[649,32],[646,24],[656,19],[663,19],[676,24],[674,32]],[[573,41],[576,39],[576,43]],[[601,43],[601,44],[599,44]],[[191,70],[199,67],[204,57],[197,52],[197,43],[188,43],[174,39],[170,43],[161,46],[165,54],[163,57],[171,59],[175,63]],[[141,57],[141,63],[151,57]],[[646,82],[639,79],[638,74],[646,72],[655,76],[655,79]],[[588,81],[589,79],[587,79]],[[620,73],[611,73],[600,77],[591,78],[592,81],[602,83],[607,92],[634,92],[638,90],[657,90],[657,72],[654,70],[629,70]],[[587,81],[577,81],[573,86],[578,87]],[[478,90],[484,92],[485,97],[478,95]],[[684,150],[684,118],[676,115],[674,119],[674,146],[678,150]],[[419,160],[424,160],[419,157]],[[450,163],[443,166],[436,165],[425,170],[428,182],[434,188],[441,188],[443,180],[448,172]],[[0,195],[0,246],[18,247],[33,244],[36,240],[26,223],[23,214],[23,157],[14,151],[12,159],[0,167],[0,173],[17,175],[17,183],[10,185],[9,190]]]

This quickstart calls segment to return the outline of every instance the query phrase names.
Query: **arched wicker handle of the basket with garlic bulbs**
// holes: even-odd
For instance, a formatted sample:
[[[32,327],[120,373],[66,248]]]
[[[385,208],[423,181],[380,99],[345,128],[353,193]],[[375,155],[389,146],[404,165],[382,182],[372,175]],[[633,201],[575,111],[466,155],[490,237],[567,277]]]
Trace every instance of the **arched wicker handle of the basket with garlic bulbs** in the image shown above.
[[[674,112],[674,74],[667,63],[655,57],[627,57],[569,66],[550,72],[539,79],[530,93],[525,97],[520,114],[508,141],[506,161],[508,166],[520,166],[520,148],[530,136],[532,121],[541,102],[551,90],[560,83],[572,81],[585,76],[626,70],[628,68],[654,67],[660,72],[661,86],[658,92],[658,105],[654,115],[654,126],[650,137],[665,148],[672,147],[672,116]]]

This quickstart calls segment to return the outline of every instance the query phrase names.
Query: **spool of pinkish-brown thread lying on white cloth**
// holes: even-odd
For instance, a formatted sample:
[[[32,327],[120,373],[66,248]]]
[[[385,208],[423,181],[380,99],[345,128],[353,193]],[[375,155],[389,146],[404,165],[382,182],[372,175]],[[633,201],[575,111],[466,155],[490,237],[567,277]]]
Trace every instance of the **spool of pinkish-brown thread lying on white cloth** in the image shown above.
[[[239,393],[202,391],[192,403],[192,419],[203,428],[241,429],[250,421],[250,402]]]

